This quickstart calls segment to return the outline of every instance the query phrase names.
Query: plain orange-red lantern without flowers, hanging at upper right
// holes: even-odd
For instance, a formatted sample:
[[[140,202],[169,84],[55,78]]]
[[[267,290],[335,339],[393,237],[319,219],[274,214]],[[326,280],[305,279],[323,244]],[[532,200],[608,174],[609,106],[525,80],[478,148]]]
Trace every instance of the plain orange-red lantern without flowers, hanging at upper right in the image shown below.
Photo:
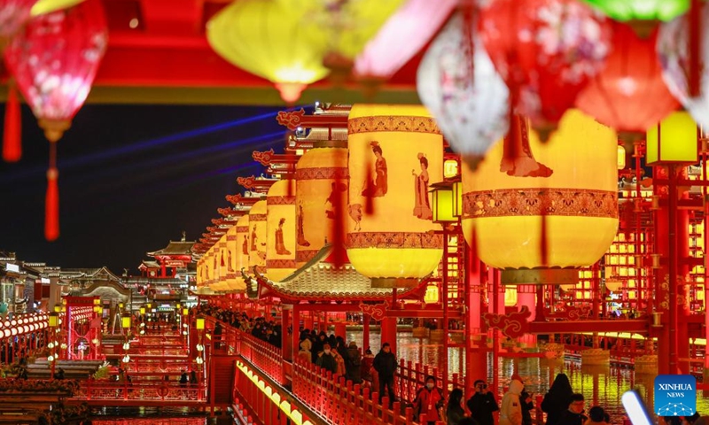
[[[641,136],[677,109],[662,79],[656,41],[657,31],[642,39],[631,27],[614,24],[612,53],[576,99],[579,109],[619,133]]]

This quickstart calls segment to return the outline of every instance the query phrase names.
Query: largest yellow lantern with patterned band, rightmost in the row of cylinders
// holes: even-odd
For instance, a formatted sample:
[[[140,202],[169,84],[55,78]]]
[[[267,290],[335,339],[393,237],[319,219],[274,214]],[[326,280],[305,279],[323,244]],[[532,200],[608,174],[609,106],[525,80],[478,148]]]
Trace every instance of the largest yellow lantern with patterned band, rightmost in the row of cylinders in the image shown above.
[[[618,230],[616,134],[576,110],[565,113],[547,143],[528,128],[515,117],[510,135],[475,172],[464,166],[466,240],[474,234],[480,259],[503,270],[550,276],[589,266]],[[578,279],[569,272],[569,282],[554,283]]]

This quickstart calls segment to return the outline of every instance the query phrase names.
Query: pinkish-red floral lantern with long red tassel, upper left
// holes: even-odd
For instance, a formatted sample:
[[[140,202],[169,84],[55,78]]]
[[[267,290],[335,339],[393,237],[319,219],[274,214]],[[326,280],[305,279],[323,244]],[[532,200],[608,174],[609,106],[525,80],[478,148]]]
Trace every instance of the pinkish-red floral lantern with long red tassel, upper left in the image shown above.
[[[107,40],[101,1],[89,0],[30,20],[4,51],[7,67],[50,141],[44,223],[49,241],[59,236],[56,142],[89,95]]]

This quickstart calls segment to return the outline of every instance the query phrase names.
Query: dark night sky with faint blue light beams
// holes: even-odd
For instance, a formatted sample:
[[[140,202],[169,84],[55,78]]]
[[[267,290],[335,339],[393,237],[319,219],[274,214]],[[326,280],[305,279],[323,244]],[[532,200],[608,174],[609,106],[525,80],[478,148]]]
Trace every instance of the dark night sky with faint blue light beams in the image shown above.
[[[0,251],[49,266],[137,273],[146,251],[183,230],[199,240],[216,209],[230,205],[224,196],[242,191],[237,176],[261,173],[251,153],[282,149],[281,109],[85,105],[58,143],[61,235],[48,243],[48,142],[23,106],[23,157],[0,160]]]

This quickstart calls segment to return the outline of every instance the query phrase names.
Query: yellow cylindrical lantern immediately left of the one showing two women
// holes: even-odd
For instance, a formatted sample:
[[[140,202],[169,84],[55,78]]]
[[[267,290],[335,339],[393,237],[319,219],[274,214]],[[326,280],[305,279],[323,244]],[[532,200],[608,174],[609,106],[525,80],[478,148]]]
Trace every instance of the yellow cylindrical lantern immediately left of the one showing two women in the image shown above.
[[[295,166],[295,262],[302,267],[325,242],[333,242],[336,225],[347,220],[347,142],[306,152]],[[337,215],[340,215],[338,218]],[[339,223],[338,223],[339,220]],[[344,241],[344,235],[340,241]]]

